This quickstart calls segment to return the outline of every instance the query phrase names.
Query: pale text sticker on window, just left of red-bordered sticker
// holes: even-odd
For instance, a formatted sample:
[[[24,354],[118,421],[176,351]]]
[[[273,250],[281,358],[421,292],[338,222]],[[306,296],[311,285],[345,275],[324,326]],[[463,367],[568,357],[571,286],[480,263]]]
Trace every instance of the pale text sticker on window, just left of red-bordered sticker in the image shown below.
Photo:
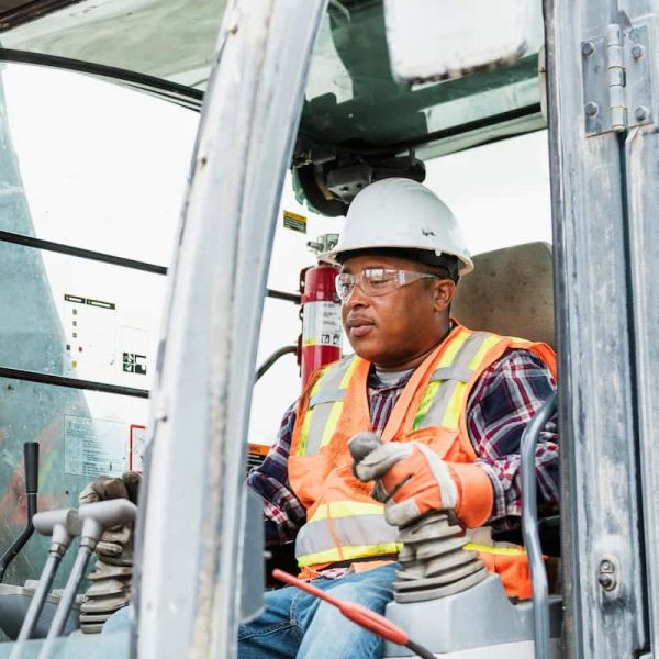
[[[121,476],[127,468],[126,424],[120,421],[64,416],[64,471],[96,478]]]

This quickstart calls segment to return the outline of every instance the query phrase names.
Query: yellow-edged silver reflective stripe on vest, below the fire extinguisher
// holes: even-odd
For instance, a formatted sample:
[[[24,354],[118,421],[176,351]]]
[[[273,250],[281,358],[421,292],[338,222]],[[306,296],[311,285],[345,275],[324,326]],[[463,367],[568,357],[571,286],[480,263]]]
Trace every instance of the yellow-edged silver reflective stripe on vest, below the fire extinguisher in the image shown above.
[[[322,446],[330,444],[356,366],[357,357],[346,357],[330,365],[317,379],[302,424],[299,456],[316,454]]]

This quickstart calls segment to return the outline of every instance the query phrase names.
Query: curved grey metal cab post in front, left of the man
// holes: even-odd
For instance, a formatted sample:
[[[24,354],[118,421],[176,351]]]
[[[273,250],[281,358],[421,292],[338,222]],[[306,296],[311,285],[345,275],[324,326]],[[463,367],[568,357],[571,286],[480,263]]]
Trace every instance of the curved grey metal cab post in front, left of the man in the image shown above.
[[[235,594],[248,577],[239,561],[250,541],[242,488],[259,321],[324,8],[324,0],[245,0],[224,16],[149,424],[142,657],[235,656]]]

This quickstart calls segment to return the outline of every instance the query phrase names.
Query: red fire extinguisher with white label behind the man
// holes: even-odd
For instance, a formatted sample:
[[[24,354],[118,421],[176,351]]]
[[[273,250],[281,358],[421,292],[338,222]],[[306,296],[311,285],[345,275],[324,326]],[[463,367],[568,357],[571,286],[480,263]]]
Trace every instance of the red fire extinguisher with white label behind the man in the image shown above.
[[[336,234],[320,236],[309,246],[320,254],[332,249],[337,239]],[[336,266],[323,261],[300,272],[302,336],[298,360],[302,387],[316,368],[340,359],[340,302],[335,288],[338,272]]]

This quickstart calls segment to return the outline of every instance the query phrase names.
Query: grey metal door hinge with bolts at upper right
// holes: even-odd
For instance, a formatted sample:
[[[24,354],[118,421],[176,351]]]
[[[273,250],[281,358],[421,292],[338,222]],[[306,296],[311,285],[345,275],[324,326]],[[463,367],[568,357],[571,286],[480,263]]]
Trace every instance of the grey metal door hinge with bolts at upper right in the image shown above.
[[[648,22],[608,25],[581,43],[585,134],[619,133],[650,124],[652,56]]]

